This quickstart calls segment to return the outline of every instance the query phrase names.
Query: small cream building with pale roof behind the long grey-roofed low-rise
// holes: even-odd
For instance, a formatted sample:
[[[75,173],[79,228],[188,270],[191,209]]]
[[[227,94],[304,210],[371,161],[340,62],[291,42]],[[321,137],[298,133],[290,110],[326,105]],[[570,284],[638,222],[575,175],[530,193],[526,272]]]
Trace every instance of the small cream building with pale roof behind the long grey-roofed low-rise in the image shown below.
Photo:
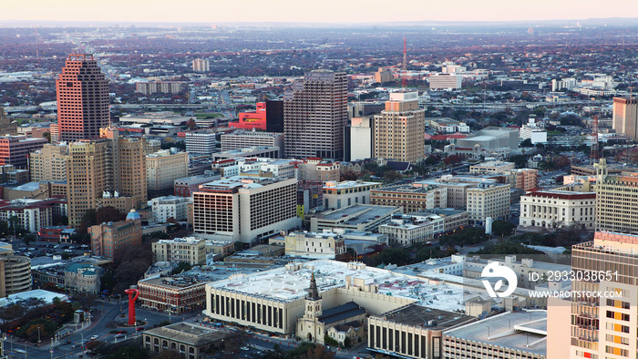
[[[324,208],[339,210],[354,204],[370,204],[370,190],[378,189],[381,183],[361,180],[345,180],[343,182],[325,182]]]

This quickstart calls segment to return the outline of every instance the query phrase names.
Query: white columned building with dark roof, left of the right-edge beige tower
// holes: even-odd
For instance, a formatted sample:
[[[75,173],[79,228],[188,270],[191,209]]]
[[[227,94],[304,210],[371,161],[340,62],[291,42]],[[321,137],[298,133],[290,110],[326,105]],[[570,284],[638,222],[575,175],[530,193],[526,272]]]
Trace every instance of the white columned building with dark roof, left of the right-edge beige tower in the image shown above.
[[[520,227],[559,228],[579,225],[593,231],[596,193],[536,190],[520,196]]]

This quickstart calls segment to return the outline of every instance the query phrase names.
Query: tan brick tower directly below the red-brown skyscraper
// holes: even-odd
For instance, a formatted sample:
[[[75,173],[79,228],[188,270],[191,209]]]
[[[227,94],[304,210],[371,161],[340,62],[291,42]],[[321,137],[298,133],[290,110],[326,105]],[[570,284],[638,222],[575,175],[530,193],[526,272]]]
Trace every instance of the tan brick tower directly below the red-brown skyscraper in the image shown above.
[[[97,208],[96,199],[106,190],[106,139],[81,139],[68,144],[68,224],[77,227],[87,210]]]

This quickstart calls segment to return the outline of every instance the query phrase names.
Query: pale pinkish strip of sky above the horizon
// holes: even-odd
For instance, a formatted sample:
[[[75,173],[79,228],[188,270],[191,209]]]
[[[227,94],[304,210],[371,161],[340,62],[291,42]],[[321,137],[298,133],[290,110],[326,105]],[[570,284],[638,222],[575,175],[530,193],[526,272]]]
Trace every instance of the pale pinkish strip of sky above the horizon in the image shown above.
[[[0,22],[533,21],[638,16],[638,0],[8,0]]]

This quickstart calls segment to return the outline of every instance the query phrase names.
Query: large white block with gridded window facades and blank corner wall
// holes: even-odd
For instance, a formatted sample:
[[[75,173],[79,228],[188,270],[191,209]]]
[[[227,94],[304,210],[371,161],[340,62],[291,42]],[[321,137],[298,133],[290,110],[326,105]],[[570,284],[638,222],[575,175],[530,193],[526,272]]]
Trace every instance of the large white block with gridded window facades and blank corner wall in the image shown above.
[[[212,240],[250,243],[298,227],[297,180],[231,177],[193,192],[193,231]]]

